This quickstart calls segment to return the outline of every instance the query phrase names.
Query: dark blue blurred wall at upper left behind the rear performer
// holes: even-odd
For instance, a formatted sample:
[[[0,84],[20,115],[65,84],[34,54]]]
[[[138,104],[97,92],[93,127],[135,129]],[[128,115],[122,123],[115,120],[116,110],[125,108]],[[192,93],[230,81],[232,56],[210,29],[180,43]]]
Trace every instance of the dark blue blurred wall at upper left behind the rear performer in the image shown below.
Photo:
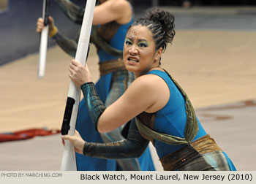
[[[75,3],[85,6],[85,0]],[[72,23],[55,1],[50,2],[50,15],[56,26],[67,37],[75,37],[80,26]],[[84,4],[84,5],[83,5]],[[6,10],[0,12],[0,66],[39,50],[37,18],[42,17],[42,0],[9,0]],[[55,45],[48,39],[48,47]]]

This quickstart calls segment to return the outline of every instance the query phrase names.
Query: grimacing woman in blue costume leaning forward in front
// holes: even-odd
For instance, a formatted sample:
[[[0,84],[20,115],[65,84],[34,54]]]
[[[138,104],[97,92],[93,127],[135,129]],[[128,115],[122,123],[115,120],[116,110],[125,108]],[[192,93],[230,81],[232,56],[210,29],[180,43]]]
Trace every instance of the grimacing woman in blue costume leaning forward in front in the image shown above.
[[[111,131],[131,120],[127,139],[120,142],[85,142],[78,131],[75,136],[64,136],[78,153],[133,158],[151,141],[164,170],[236,170],[201,126],[187,94],[160,66],[161,55],[174,35],[174,17],[162,9],[151,9],[132,23],[124,43],[124,65],[136,79],[107,108],[97,96],[88,67],[72,60],[69,77],[82,89],[98,131]]]

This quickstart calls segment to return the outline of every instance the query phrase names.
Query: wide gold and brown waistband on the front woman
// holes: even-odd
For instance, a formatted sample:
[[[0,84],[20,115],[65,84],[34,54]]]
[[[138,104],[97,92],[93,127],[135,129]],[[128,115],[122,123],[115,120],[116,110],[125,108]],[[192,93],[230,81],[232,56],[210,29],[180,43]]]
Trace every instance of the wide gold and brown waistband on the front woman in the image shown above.
[[[210,153],[214,151],[221,151],[214,139],[209,135],[203,136],[192,142],[190,145],[182,147],[180,150],[176,150],[173,153],[168,154],[159,159],[164,170],[176,170],[189,161],[198,158],[199,154]]]

